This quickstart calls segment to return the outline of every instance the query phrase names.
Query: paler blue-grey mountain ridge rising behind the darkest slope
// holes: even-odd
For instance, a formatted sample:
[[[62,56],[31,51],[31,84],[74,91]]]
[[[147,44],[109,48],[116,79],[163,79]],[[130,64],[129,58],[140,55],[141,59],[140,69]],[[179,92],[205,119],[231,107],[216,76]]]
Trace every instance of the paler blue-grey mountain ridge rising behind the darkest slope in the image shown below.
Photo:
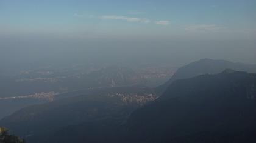
[[[176,73],[169,79],[168,82],[157,88],[158,91],[163,92],[172,82],[177,79],[192,78],[203,74],[221,73],[225,69],[233,69],[236,71],[246,71],[249,73],[256,73],[256,65],[235,63],[226,60],[216,59],[200,59],[188,65],[180,67]]]

